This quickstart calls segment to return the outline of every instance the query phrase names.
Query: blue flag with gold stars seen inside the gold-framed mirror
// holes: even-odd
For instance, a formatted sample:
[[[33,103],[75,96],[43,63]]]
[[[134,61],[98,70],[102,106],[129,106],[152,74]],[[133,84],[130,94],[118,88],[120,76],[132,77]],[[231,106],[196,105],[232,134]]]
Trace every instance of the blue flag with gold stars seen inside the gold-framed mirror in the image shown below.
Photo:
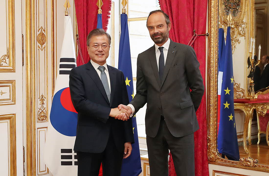
[[[221,86],[220,126],[218,131],[218,151],[229,160],[239,161],[239,149],[235,126],[233,104],[233,61],[231,44],[231,27],[227,29],[224,71]]]

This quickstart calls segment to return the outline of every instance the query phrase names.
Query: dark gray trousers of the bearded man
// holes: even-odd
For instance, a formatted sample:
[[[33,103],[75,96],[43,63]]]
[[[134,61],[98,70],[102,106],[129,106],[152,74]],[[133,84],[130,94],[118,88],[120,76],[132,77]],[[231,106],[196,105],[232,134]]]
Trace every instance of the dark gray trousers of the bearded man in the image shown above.
[[[193,133],[174,137],[168,130],[165,120],[161,120],[155,137],[147,136],[150,175],[168,176],[168,154],[171,151],[176,174],[194,176],[194,138]]]

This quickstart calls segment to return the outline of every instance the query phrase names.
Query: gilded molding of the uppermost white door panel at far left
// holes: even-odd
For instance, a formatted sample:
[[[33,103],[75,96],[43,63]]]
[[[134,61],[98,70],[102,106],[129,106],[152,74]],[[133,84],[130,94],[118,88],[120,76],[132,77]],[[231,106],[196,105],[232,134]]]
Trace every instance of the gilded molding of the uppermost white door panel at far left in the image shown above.
[[[15,0],[6,1],[6,53],[0,57],[0,72],[15,72]]]

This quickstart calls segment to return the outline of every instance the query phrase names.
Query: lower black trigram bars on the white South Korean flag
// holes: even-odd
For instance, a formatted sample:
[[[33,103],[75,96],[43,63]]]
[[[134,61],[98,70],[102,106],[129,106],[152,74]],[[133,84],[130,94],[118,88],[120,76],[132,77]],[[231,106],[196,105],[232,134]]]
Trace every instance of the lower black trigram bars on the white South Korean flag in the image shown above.
[[[77,165],[77,153],[72,149],[61,149],[61,165]]]

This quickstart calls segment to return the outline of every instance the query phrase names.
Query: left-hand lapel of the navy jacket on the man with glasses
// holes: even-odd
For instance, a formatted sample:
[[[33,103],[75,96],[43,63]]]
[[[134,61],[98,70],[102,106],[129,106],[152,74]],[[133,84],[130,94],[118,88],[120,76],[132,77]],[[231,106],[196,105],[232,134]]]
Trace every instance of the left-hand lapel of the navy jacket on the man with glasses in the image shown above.
[[[104,85],[102,84],[102,81],[97,74],[96,70],[94,69],[93,65],[89,61],[86,65],[86,72],[87,74],[93,79],[94,83],[96,84],[97,88],[100,90],[102,95],[104,96],[105,100],[109,104],[108,98],[107,98],[107,93],[105,92]]]

